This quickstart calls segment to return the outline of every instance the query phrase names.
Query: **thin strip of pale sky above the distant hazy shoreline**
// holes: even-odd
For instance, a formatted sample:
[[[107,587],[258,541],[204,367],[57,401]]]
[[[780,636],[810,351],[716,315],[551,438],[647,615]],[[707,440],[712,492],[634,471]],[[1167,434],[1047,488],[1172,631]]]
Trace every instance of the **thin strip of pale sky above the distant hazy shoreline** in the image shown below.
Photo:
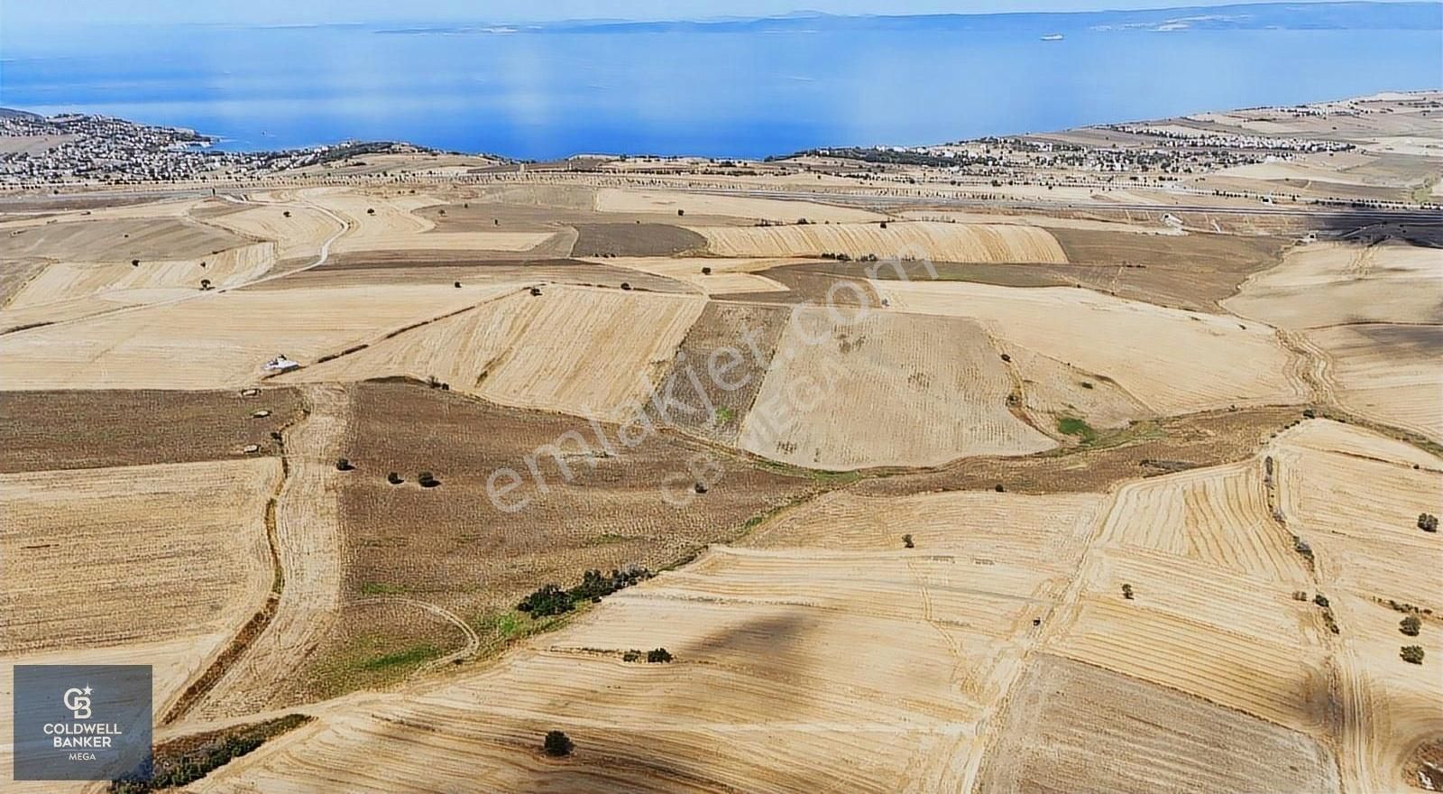
[[[118,23],[316,25],[325,22],[554,22],[563,19],[710,19],[834,14],[1095,12],[1225,6],[1237,0],[0,0],[0,26],[27,29]],[[1299,0],[1294,0],[1299,1]],[[1300,0],[1325,1],[1325,0]]]

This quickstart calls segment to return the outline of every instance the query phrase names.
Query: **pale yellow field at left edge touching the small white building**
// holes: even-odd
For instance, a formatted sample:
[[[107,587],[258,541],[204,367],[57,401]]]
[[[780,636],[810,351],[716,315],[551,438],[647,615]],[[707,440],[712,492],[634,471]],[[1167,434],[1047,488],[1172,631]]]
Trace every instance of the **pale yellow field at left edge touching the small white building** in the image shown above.
[[[0,388],[224,388],[492,297],[506,286],[391,284],[205,293],[0,336]]]

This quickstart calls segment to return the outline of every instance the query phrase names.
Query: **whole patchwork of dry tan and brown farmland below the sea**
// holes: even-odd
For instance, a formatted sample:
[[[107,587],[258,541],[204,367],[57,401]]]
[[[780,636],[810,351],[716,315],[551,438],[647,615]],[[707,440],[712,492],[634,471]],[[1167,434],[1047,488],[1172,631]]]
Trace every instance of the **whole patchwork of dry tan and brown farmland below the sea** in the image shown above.
[[[0,697],[149,664],[208,793],[1439,790],[1440,102],[165,180],[0,113]]]

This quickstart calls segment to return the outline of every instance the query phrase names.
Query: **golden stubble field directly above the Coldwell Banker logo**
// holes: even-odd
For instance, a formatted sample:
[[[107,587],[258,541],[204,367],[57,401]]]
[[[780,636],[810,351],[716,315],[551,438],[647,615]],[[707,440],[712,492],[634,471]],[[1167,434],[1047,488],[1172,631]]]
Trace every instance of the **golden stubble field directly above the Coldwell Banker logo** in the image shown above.
[[[0,475],[0,654],[240,628],[271,583],[278,484],[276,459]]]

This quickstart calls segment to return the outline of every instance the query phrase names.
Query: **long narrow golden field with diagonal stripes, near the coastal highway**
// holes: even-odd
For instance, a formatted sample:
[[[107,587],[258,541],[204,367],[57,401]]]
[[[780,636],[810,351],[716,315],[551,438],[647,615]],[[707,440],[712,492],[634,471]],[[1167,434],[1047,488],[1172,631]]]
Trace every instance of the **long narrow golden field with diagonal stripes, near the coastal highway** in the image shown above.
[[[808,224],[791,227],[688,227],[723,257],[926,258],[932,261],[1049,263],[1068,261],[1046,230],[1006,224]]]

